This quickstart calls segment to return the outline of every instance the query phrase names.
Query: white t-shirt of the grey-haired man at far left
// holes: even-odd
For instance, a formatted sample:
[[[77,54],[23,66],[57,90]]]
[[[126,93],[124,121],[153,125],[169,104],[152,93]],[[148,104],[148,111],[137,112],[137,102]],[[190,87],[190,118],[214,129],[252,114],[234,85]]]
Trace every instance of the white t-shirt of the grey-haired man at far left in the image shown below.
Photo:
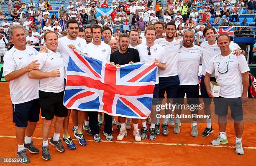
[[[26,46],[26,50],[11,48],[4,56],[3,75],[6,76],[15,70],[20,70],[31,63],[37,55],[36,49]],[[10,97],[13,104],[25,103],[39,98],[39,80],[28,77],[28,72],[10,81]]]

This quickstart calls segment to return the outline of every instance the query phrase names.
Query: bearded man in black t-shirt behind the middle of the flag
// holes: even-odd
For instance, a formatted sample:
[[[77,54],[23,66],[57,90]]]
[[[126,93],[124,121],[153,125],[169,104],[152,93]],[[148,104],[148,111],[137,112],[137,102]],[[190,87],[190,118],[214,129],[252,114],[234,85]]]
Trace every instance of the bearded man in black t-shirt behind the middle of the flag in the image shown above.
[[[114,62],[115,65],[125,65],[128,63],[136,63],[140,61],[138,51],[129,46],[129,36],[127,34],[121,34],[119,36],[120,49],[110,55],[110,62]],[[125,117],[118,117],[120,122],[120,131],[117,136],[117,140],[123,140],[124,136],[127,136],[127,129],[125,126]],[[133,121],[133,136],[135,141],[141,141],[140,130],[138,129],[138,119],[132,119]]]

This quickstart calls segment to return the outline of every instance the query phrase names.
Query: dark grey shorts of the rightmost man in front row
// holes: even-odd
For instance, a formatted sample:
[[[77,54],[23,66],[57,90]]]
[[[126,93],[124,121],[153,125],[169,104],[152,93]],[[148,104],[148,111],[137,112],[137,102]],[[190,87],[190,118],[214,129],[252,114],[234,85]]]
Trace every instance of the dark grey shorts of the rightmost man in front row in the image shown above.
[[[231,117],[235,121],[243,120],[243,106],[241,98],[213,98],[215,105],[215,114],[218,116],[228,115],[228,106],[230,107]]]

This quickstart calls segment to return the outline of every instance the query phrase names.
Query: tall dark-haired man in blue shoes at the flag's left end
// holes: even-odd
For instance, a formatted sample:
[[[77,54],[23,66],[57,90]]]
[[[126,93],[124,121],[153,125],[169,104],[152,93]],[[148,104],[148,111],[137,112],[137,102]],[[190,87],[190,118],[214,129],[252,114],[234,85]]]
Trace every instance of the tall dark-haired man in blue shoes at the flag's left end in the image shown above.
[[[59,38],[59,46],[58,49],[59,53],[61,54],[65,70],[67,71],[67,65],[69,61],[69,54],[72,53],[72,50],[67,47],[67,44],[75,45],[76,49],[81,51],[82,53],[87,53],[87,45],[86,41],[82,38],[77,38],[79,28],[78,28],[78,22],[74,19],[69,19],[67,21],[67,33],[68,35],[62,38]],[[45,49],[45,47],[41,47],[40,52],[48,52],[48,50]],[[66,75],[65,75],[66,78]],[[76,148],[76,145],[72,141],[69,132],[68,132],[68,126],[69,126],[69,116],[70,116],[71,110],[68,110],[68,115],[64,119],[63,123],[63,141],[67,144],[67,148],[73,150]],[[72,110],[72,120],[73,120],[73,127],[72,131],[74,131],[74,136],[78,139],[79,144],[82,146],[86,145],[86,141],[84,139],[84,134],[82,133],[82,127],[84,123],[84,111],[78,111],[78,110]]]

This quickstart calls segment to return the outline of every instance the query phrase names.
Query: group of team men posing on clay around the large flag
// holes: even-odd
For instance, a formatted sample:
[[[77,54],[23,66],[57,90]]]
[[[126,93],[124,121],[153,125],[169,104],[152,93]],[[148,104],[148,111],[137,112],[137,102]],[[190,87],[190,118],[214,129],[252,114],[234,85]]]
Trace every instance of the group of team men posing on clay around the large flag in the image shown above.
[[[16,138],[18,142],[17,155],[21,163],[29,163],[26,149],[31,153],[39,153],[33,145],[32,135],[39,121],[39,110],[44,118],[42,126],[43,142],[41,146],[42,158],[51,159],[48,138],[51,123],[54,121],[54,135],[50,144],[59,152],[65,148],[61,143],[60,134],[63,128],[62,140],[67,148],[74,150],[75,143],[69,135],[69,116],[72,112],[74,137],[81,146],[86,145],[82,128],[88,135],[93,135],[96,142],[102,141],[100,137],[100,125],[98,112],[68,110],[63,105],[66,71],[69,55],[72,49],[77,49],[87,54],[90,58],[107,61],[110,65],[121,67],[125,64],[133,64],[154,60],[159,68],[156,75],[156,85],[151,106],[151,125],[148,129],[146,119],[141,119],[142,128],[138,129],[138,119],[133,121],[133,136],[135,141],[146,139],[149,131],[149,140],[156,139],[160,132],[160,121],[156,118],[156,105],[161,104],[164,94],[167,95],[167,103],[183,104],[183,98],[187,95],[189,105],[199,104],[198,67],[202,63],[203,77],[201,80],[201,93],[205,103],[205,114],[211,115],[210,103],[212,93],[210,80],[217,81],[221,86],[220,97],[214,98],[215,114],[218,115],[220,134],[213,140],[212,145],[228,143],[225,136],[226,116],[228,105],[231,108],[231,116],[235,121],[236,153],[243,154],[243,110],[242,103],[247,100],[248,89],[248,65],[246,59],[240,53],[243,50],[230,49],[230,38],[221,34],[215,40],[215,29],[207,26],[204,36],[207,42],[201,46],[194,45],[195,32],[186,30],[182,39],[174,38],[175,23],[166,23],[166,37],[161,38],[164,25],[156,22],[154,26],[148,26],[145,30],[145,39],[139,40],[137,30],[131,30],[129,35],[121,34],[119,40],[112,40],[110,28],[102,29],[99,25],[79,29],[76,20],[67,21],[68,35],[58,38],[57,34],[49,31],[44,34],[46,47],[41,47],[40,53],[26,45],[25,28],[21,25],[12,25],[9,28],[10,39],[14,47],[4,56],[4,77],[10,81],[10,97],[13,104],[13,122],[16,126]],[[104,41],[101,41],[103,37]],[[236,54],[237,55],[236,55]],[[40,80],[40,81],[39,81]],[[180,132],[181,122],[178,115],[181,111],[176,109],[175,123],[173,119],[164,118],[161,125],[163,135],[168,135],[168,120],[174,125],[174,133]],[[165,113],[172,113],[165,110]],[[198,113],[198,109],[192,114]],[[113,117],[104,113],[104,131],[108,141],[112,141]],[[211,118],[207,120],[207,127],[202,136],[209,136],[213,132]],[[117,140],[123,140],[127,136],[125,118],[118,117],[120,131]],[[198,136],[197,118],[192,119],[193,137]],[[25,141],[24,141],[25,137]]]

